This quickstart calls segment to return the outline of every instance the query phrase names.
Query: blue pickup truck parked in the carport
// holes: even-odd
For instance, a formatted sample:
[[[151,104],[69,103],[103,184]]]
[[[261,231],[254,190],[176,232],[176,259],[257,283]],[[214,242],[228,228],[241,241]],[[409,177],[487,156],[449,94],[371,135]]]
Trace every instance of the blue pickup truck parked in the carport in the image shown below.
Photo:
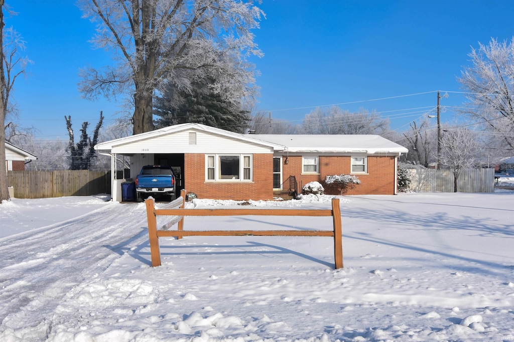
[[[136,197],[142,202],[146,197],[170,196],[176,198],[175,176],[171,166],[145,165],[136,177]]]

